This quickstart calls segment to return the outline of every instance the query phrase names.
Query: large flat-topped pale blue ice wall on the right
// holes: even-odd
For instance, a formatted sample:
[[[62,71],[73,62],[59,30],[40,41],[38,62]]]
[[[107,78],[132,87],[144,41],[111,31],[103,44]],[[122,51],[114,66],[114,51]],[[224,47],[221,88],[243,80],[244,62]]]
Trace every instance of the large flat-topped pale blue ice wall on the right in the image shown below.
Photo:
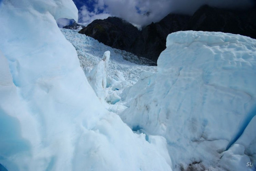
[[[123,121],[164,136],[174,170],[223,169],[227,154],[222,152],[230,146],[235,160],[225,168],[253,169],[246,162],[256,166],[256,40],[180,31],[167,37],[166,46],[157,61],[158,73],[143,73],[127,89]],[[235,143],[243,148],[232,147]]]

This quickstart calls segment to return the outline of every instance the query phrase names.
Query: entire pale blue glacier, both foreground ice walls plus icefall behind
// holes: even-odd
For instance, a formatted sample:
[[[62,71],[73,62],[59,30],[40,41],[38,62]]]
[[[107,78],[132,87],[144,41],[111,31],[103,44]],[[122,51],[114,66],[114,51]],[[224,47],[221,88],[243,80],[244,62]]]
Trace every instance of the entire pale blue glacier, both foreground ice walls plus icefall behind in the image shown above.
[[[0,171],[256,170],[255,39],[179,31],[149,66],[77,12],[0,1]]]

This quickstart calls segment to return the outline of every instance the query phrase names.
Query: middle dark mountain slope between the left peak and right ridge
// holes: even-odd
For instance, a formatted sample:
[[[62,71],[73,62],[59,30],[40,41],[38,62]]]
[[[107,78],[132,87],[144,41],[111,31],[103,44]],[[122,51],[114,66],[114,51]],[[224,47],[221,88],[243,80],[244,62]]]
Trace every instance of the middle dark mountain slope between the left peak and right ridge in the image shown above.
[[[169,14],[158,23],[144,27],[133,42],[129,52],[157,62],[159,54],[165,50],[168,34],[186,29],[190,16]]]

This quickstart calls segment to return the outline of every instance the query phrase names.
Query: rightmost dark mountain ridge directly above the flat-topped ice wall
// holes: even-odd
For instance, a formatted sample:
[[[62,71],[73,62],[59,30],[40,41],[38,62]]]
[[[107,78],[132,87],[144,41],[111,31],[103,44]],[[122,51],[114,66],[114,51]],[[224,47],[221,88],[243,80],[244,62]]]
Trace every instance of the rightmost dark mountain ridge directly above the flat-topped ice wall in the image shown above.
[[[227,10],[204,5],[190,18],[187,29],[221,31],[256,39],[256,8]]]

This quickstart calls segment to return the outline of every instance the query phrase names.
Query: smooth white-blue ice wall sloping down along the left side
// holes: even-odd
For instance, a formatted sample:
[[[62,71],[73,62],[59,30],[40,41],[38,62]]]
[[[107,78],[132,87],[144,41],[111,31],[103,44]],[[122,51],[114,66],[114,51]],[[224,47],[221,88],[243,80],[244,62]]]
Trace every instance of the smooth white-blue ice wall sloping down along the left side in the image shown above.
[[[8,171],[170,171],[165,138],[104,109],[55,19],[71,0],[0,4],[0,163]]]

